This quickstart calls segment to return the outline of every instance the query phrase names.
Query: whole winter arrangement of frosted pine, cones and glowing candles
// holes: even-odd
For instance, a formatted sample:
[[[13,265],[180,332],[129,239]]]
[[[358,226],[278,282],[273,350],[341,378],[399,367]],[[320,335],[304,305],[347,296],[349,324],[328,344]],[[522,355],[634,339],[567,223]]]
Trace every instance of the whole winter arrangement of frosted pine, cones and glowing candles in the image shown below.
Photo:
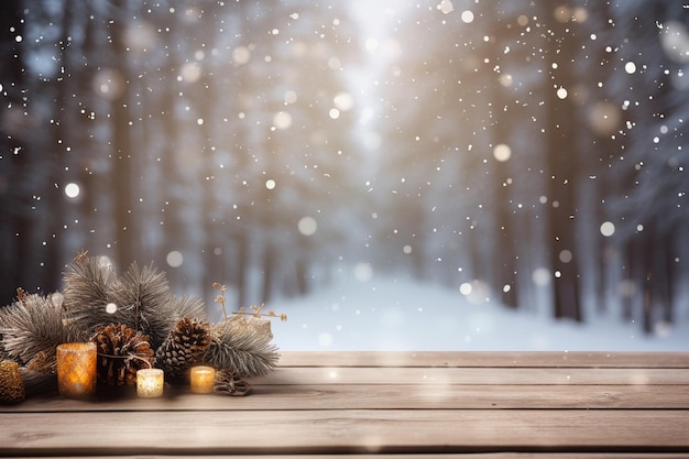
[[[195,371],[194,390],[245,395],[245,380],[266,375],[280,359],[271,320],[287,316],[263,306],[228,314],[225,285],[212,284],[223,319],[211,324],[199,297],[174,295],[153,266],[132,263],[118,275],[108,258],[80,251],[63,280],[62,292],[18,288],[17,300],[0,307],[0,360],[19,365],[26,394],[54,391],[55,374],[69,397],[88,396],[96,385],[139,391],[151,373],[188,387],[192,368],[204,365],[214,373]],[[141,372],[149,369],[156,371]],[[145,396],[155,390],[142,389]]]

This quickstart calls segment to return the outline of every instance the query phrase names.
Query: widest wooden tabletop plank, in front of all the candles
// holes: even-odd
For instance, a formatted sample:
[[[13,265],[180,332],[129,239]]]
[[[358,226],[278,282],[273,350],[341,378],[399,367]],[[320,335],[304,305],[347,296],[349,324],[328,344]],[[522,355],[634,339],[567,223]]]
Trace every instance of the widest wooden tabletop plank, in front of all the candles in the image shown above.
[[[0,414],[3,455],[689,452],[689,412],[381,409]]]

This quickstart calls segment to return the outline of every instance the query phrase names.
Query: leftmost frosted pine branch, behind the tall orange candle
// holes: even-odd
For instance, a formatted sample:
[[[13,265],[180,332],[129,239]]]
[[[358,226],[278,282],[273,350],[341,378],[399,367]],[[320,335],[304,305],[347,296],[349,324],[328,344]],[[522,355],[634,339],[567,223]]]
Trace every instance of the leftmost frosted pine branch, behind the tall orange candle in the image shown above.
[[[26,367],[52,373],[56,367],[57,345],[84,338],[79,328],[65,323],[62,295],[25,295],[0,309],[2,348]]]

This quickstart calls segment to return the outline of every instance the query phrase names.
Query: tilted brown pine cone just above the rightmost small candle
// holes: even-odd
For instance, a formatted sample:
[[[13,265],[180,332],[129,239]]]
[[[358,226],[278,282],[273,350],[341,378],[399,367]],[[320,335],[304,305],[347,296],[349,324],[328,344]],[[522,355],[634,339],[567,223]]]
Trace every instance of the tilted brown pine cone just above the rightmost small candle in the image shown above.
[[[183,318],[155,351],[156,367],[165,378],[178,379],[197,363],[210,346],[210,325],[196,318]]]

